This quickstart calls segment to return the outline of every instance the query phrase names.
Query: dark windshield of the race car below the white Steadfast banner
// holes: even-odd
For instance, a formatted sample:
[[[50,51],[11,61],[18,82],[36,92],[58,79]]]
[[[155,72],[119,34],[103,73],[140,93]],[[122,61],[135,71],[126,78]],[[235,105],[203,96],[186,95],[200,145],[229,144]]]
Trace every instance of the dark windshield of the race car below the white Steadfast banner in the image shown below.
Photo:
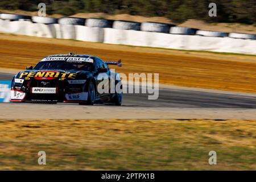
[[[75,69],[77,71],[92,71],[92,63],[86,61],[41,61],[34,69]]]

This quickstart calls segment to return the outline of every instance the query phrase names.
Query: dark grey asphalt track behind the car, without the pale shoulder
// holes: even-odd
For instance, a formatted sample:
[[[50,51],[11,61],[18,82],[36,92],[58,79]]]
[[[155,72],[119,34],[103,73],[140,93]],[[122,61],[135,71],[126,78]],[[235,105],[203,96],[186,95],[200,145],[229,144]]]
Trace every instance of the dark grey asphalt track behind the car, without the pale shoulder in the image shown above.
[[[0,80],[11,80],[12,77],[12,74],[0,73]],[[256,109],[256,97],[253,96],[195,90],[160,88],[158,100],[148,100],[148,94],[124,94],[123,105]]]

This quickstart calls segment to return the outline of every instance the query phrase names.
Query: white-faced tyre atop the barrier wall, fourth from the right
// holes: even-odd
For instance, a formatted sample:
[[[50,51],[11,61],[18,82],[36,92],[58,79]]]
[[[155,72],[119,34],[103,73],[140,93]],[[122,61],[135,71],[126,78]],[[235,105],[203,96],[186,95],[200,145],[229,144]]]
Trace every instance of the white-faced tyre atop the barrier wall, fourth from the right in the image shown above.
[[[169,33],[170,27],[173,26],[173,24],[143,22],[141,24],[141,31]]]

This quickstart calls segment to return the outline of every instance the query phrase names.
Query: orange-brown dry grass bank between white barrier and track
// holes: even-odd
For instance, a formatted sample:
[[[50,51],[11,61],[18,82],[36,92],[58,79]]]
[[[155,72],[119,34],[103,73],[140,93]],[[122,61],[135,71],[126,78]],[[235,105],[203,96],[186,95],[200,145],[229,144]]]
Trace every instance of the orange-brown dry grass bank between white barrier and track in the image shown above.
[[[0,67],[24,69],[42,57],[77,52],[123,60],[123,73],[159,73],[162,84],[256,93],[256,56],[117,46],[100,43],[0,35]],[[234,60],[234,61],[232,61]]]

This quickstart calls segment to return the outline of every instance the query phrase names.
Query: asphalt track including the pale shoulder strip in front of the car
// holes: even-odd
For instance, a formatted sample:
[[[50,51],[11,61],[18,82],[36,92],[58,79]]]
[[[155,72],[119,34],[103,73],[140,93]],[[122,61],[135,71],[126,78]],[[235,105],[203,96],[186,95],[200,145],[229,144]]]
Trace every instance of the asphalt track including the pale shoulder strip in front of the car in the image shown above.
[[[9,73],[0,73],[0,80],[11,80],[13,77]],[[45,104],[44,104],[45,105]],[[29,103],[2,103],[0,104],[1,118],[10,118],[8,113],[10,110],[22,110],[26,108],[31,109],[35,106],[42,108],[43,104],[29,104]],[[3,106],[3,107],[2,107]],[[65,109],[74,108],[79,111],[82,107],[77,104],[57,104],[46,105],[47,108]],[[235,92],[224,92],[218,90],[182,88],[177,86],[166,86],[166,88],[159,88],[158,100],[148,100],[148,94],[124,94],[123,104],[121,107],[116,106],[86,106],[86,108],[94,111],[99,108],[106,112],[106,116],[101,118],[108,118],[108,110],[113,113],[113,118],[256,118],[256,96],[253,94],[242,94]],[[49,109],[51,110],[51,109]],[[237,113],[240,114],[237,115]],[[46,113],[48,111],[46,110]],[[133,112],[133,114],[129,114]],[[19,113],[19,111],[18,111]],[[70,112],[69,112],[70,113]],[[89,114],[88,111],[87,114]],[[77,113],[73,113],[72,118],[84,118]],[[115,115],[116,114],[116,115]],[[103,114],[104,115],[104,114]],[[122,115],[122,117],[120,116]],[[47,115],[46,115],[47,116]],[[42,115],[42,117],[46,117]],[[67,115],[68,117],[69,115]],[[95,117],[98,115],[96,114]],[[25,117],[20,115],[21,118]],[[53,117],[53,116],[52,116]],[[90,115],[89,118],[94,118]],[[110,117],[110,118],[111,118]],[[36,118],[36,117],[31,117]],[[55,118],[55,117],[53,117]],[[61,116],[57,116],[61,118]],[[87,118],[87,116],[86,116]]]

